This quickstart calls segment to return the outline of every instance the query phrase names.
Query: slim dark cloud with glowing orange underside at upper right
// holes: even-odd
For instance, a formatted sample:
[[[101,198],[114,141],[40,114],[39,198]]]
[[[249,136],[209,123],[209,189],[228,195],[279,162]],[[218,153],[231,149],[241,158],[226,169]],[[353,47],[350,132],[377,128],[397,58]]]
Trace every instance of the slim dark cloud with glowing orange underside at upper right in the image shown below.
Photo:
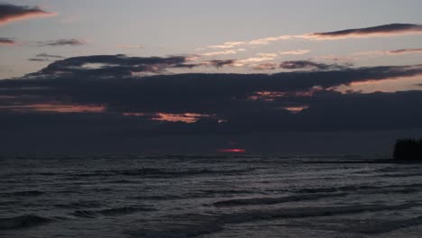
[[[392,23],[367,28],[348,29],[337,32],[316,32],[311,34],[311,36],[322,39],[337,39],[347,37],[399,35],[408,33],[422,33],[422,25],[408,23]]]

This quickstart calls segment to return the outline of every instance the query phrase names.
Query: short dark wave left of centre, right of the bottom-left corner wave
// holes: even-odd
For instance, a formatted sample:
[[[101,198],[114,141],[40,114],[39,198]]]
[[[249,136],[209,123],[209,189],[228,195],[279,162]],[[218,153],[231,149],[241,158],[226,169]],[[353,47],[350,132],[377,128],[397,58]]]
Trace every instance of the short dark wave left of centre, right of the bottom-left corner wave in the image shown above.
[[[143,206],[124,206],[124,207],[115,207],[109,209],[102,209],[102,210],[77,210],[72,213],[72,215],[85,217],[85,218],[95,218],[97,216],[105,215],[105,216],[113,216],[113,215],[128,215],[138,212],[146,212],[146,211],[155,211],[155,209],[151,207],[143,207]]]

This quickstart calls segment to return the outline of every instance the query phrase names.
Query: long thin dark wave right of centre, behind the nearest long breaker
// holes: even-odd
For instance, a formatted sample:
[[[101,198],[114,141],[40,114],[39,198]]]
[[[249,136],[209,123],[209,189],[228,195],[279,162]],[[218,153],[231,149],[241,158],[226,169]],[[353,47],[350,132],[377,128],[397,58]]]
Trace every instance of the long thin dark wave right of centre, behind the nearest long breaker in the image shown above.
[[[288,202],[299,202],[305,200],[316,200],[323,197],[340,197],[346,196],[346,193],[338,194],[309,194],[309,195],[293,195],[289,197],[257,197],[245,199],[230,199],[214,203],[214,206],[245,206],[245,205],[272,205]]]

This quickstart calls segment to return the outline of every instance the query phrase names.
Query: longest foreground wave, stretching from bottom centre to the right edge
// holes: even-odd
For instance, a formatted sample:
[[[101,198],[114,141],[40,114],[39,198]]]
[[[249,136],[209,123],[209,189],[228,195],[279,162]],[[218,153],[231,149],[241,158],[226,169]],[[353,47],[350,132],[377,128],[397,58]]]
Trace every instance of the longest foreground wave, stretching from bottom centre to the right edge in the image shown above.
[[[130,232],[133,237],[197,237],[206,233],[216,233],[224,229],[226,224],[242,224],[261,220],[276,220],[283,218],[307,218],[315,216],[352,215],[363,212],[378,212],[383,210],[407,209],[417,204],[402,204],[396,206],[323,206],[323,207],[300,207],[300,208],[279,208],[273,210],[250,210],[233,214],[203,215],[203,214],[181,214],[168,215],[170,219],[167,224],[146,224],[151,229],[144,228]],[[163,220],[161,220],[163,221]],[[415,224],[420,220],[408,220],[402,224]]]

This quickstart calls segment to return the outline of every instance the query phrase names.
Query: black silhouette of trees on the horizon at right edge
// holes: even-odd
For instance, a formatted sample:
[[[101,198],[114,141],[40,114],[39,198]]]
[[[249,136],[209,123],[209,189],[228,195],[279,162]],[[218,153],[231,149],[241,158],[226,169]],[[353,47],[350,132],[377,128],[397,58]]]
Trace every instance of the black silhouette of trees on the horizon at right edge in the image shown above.
[[[393,152],[394,160],[422,161],[422,139],[399,139],[396,141]]]

